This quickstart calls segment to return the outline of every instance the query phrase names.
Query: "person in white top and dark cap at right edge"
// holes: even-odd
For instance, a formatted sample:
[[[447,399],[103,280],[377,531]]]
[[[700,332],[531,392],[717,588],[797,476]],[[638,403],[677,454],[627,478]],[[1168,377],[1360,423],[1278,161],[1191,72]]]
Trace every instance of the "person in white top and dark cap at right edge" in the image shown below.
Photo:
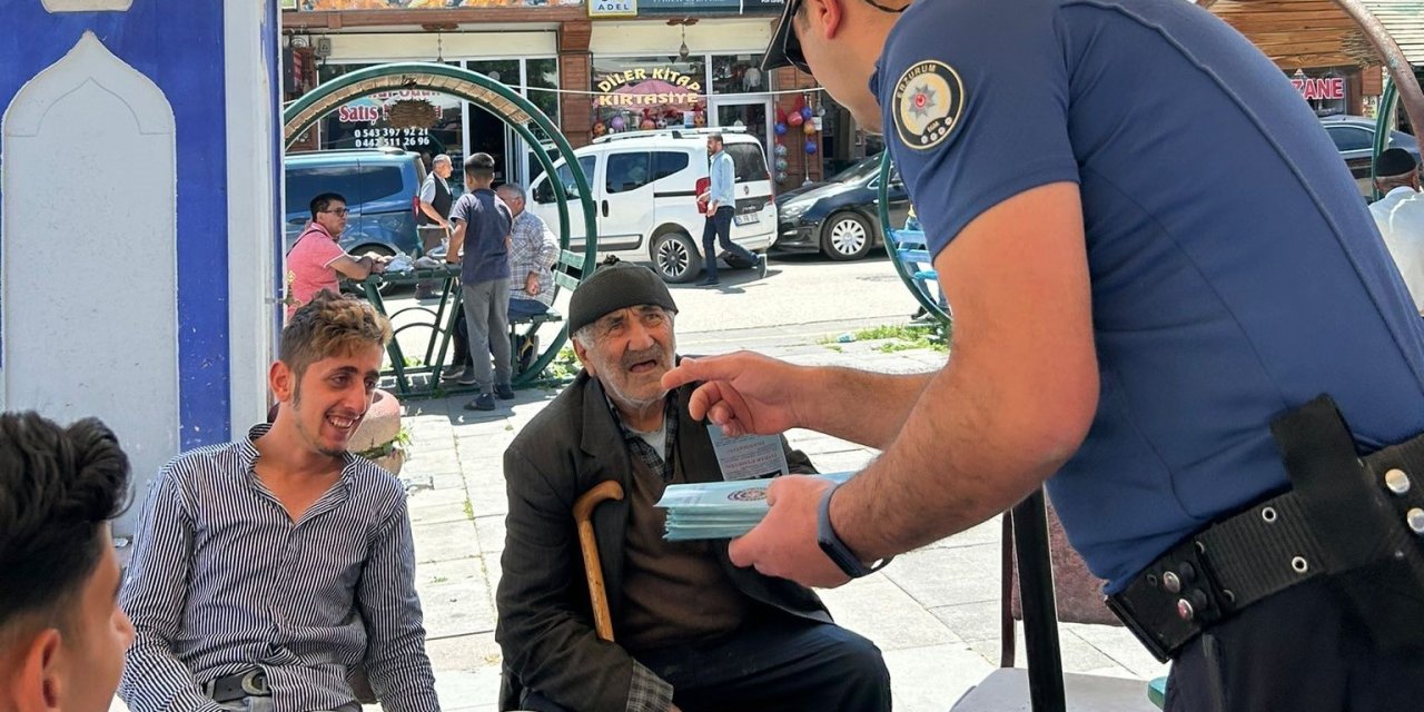
[[[1404,276],[1414,308],[1424,313],[1424,194],[1418,161],[1403,148],[1390,148],[1376,158],[1374,175],[1384,198],[1370,205],[1370,215]]]

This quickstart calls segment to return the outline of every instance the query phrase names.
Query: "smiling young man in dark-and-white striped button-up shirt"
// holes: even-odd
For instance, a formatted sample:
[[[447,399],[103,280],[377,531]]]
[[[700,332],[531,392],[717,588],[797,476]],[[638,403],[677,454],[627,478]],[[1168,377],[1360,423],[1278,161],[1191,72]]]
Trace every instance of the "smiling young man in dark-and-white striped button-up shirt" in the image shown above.
[[[390,325],[319,293],[282,330],[276,420],[178,456],[154,481],[122,604],[134,712],[437,711],[400,481],[346,447]]]

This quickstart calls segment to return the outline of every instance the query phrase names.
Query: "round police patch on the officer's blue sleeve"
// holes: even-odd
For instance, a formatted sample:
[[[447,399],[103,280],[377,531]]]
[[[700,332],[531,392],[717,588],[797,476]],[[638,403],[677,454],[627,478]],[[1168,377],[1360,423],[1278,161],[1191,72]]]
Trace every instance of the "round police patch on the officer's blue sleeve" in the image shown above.
[[[917,151],[944,142],[964,112],[964,81],[943,61],[921,61],[900,75],[894,94],[894,128]]]

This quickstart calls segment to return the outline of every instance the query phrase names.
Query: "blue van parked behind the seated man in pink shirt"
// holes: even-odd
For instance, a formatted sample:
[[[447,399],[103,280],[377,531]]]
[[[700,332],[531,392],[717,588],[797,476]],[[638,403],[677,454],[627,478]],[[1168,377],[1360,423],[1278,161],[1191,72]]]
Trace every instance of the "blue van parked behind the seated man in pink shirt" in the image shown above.
[[[426,167],[420,155],[399,148],[303,151],[286,155],[286,249],[312,219],[312,198],[323,192],[346,197],[342,249],[416,255],[420,245],[416,211]]]

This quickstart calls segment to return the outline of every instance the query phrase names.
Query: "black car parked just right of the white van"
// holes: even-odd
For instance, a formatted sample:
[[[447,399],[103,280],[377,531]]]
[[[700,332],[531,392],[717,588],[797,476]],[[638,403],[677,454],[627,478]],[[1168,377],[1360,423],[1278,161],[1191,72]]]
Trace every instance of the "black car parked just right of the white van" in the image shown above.
[[[823,252],[830,259],[860,259],[884,244],[880,229],[880,157],[874,155],[823,184],[776,197],[778,232],[772,249]],[[910,197],[890,172],[890,221],[904,225]]]

